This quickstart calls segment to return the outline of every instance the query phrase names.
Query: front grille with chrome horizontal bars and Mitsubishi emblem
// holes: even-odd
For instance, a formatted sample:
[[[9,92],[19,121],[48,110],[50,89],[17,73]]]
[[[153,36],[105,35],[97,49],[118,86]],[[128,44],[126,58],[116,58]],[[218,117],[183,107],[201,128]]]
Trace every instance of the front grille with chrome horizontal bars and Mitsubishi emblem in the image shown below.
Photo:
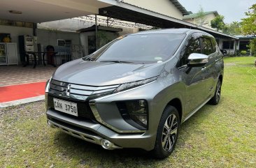
[[[80,84],[69,84],[52,79],[49,93],[73,100],[87,100],[89,97],[105,96],[113,93],[119,85],[110,86],[88,86]]]

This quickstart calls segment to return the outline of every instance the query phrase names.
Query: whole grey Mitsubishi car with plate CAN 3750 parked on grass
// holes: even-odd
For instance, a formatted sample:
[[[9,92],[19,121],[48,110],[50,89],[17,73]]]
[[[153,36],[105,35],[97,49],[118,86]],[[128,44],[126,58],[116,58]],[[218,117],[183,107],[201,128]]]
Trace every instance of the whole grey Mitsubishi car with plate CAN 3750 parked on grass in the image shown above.
[[[166,158],[180,124],[218,104],[223,68],[215,38],[203,31],[121,36],[57,68],[45,88],[48,124],[106,149]]]

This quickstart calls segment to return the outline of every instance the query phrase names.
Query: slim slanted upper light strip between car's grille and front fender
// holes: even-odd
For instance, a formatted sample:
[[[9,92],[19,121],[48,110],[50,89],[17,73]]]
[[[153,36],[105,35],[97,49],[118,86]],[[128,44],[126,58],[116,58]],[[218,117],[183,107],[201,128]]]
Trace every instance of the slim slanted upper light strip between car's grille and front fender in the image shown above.
[[[121,84],[120,86],[118,86],[117,89],[115,89],[115,91],[113,91],[113,93],[118,93],[120,91],[125,91],[127,89],[131,89],[131,88],[141,86],[143,84],[148,84],[150,82],[155,81],[156,79],[157,79],[157,77],[151,77],[151,78],[136,81],[136,82],[129,82],[129,83]]]

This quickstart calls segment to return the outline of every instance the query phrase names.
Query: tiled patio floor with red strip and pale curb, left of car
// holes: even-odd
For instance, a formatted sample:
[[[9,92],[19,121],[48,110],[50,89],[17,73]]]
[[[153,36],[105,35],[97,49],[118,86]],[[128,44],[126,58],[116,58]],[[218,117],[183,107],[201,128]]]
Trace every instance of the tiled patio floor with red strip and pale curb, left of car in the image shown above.
[[[52,66],[0,66],[0,108],[44,99],[45,82]]]

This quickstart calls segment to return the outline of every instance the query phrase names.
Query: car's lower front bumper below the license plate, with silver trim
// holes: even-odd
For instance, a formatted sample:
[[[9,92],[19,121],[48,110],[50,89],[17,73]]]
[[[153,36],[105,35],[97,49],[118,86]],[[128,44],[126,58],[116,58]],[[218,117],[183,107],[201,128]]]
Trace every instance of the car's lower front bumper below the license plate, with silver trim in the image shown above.
[[[87,142],[101,145],[103,139],[113,143],[114,148],[143,148],[146,151],[152,150],[155,144],[154,137],[147,132],[133,134],[119,134],[91,120],[74,119],[66,114],[60,114],[54,109],[46,112],[48,124],[53,128],[59,128],[73,137],[78,137]],[[146,143],[145,143],[146,142]]]

